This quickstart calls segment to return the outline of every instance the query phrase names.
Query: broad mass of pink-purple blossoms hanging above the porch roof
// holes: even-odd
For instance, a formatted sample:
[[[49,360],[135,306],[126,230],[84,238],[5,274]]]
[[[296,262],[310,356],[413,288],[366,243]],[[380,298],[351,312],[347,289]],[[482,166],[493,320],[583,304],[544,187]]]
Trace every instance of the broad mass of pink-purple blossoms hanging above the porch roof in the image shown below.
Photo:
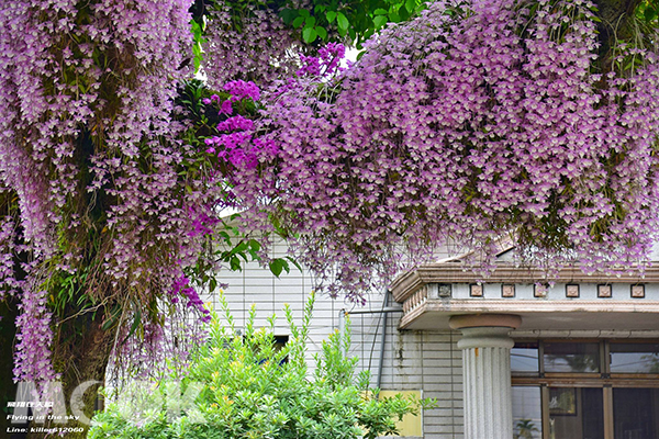
[[[654,47],[619,45],[602,66],[594,10],[433,2],[338,80],[289,82],[259,128],[277,156],[237,177],[248,221],[277,216],[355,300],[445,245],[476,250],[487,275],[502,237],[546,267],[643,266],[659,217],[659,64]]]

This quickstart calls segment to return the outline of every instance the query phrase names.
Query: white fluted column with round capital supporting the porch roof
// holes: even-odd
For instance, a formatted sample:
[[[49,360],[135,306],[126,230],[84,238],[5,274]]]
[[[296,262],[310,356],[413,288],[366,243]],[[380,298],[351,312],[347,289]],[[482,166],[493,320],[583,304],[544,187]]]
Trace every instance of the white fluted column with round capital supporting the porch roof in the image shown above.
[[[465,439],[512,439],[511,348],[516,315],[465,315],[450,318],[462,338]]]

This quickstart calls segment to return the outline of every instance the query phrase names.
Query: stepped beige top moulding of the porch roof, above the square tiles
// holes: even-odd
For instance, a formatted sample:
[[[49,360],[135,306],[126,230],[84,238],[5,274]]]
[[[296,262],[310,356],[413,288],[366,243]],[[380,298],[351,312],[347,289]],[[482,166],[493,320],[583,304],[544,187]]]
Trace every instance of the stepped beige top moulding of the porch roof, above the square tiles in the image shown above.
[[[429,263],[401,274],[391,283],[389,290],[396,302],[403,303],[421,286],[428,283],[476,283],[482,280],[481,274],[465,269],[460,262]],[[547,280],[547,272],[543,269],[499,263],[492,275],[484,281],[488,283],[535,283]],[[558,277],[552,280],[557,283],[659,283],[659,267],[646,268],[644,275],[634,271],[627,271],[619,275],[587,274],[579,267],[568,267],[560,270]]]

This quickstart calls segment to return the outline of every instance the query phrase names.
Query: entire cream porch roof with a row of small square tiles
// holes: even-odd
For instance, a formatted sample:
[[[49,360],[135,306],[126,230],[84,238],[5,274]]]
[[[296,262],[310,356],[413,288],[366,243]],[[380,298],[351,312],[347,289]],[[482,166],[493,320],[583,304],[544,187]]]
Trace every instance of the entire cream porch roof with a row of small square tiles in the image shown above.
[[[537,294],[534,284],[545,282],[541,269],[499,261],[496,270],[481,284],[481,277],[466,270],[459,260],[425,264],[390,285],[403,304],[402,329],[448,329],[453,315],[516,314],[521,330],[659,330],[659,267],[619,274],[587,274],[579,267],[560,270],[556,284]],[[479,296],[472,296],[479,285]],[[513,295],[504,296],[503,285]],[[579,285],[577,296],[567,296],[567,285]],[[602,296],[600,285],[610,285]],[[641,290],[632,291],[633,285]],[[510,290],[507,290],[510,291]],[[643,295],[636,294],[643,292]]]

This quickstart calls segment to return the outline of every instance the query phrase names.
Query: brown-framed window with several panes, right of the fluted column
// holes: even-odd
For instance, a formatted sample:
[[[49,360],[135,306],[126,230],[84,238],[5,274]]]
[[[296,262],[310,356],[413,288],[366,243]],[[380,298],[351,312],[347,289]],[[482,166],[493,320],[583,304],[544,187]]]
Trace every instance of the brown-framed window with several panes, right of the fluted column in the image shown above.
[[[659,439],[659,342],[522,340],[514,439]]]

